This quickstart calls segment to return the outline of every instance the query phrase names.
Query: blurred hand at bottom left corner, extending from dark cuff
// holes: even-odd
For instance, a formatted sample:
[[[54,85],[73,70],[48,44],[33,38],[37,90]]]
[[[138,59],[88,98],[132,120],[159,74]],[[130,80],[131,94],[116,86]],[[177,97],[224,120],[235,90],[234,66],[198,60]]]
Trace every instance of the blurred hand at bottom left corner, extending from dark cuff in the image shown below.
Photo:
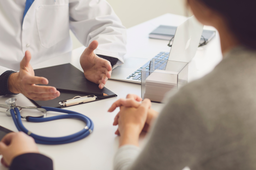
[[[4,136],[0,142],[1,163],[8,167],[12,160],[24,153],[39,153],[35,140],[24,132],[12,132]]]

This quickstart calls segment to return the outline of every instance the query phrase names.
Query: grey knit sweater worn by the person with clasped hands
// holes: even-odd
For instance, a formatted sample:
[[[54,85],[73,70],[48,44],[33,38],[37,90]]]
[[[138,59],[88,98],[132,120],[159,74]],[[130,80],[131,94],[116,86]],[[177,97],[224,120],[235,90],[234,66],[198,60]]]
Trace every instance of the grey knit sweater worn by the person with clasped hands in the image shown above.
[[[142,151],[120,147],[114,170],[256,170],[256,51],[237,47],[172,96]]]

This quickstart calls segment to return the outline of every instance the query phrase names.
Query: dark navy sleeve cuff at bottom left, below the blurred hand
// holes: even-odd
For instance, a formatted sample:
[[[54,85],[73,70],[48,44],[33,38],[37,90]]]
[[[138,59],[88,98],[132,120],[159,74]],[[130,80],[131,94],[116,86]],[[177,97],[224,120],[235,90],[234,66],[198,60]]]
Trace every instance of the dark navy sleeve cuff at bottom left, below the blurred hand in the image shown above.
[[[15,157],[9,170],[53,170],[52,159],[39,153],[25,153]]]

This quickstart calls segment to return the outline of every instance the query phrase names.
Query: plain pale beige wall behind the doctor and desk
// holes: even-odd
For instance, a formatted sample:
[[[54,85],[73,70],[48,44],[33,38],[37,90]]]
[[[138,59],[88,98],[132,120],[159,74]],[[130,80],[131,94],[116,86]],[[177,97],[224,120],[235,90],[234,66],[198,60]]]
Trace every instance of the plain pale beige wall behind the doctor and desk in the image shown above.
[[[184,0],[107,0],[126,28],[166,13],[186,15]],[[71,33],[73,49],[82,44]]]

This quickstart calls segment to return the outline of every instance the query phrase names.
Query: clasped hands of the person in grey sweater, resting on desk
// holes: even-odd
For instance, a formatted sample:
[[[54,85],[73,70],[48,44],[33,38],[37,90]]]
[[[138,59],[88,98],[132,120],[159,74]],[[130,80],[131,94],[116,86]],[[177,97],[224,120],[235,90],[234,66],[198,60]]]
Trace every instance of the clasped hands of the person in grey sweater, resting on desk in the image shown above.
[[[114,102],[109,112],[113,112],[120,107],[120,112],[116,115],[113,125],[119,125],[115,134],[120,135],[119,146],[125,144],[138,145],[138,137],[141,131],[148,131],[152,120],[158,116],[158,112],[153,110],[149,99],[137,95],[127,95],[126,99],[119,99]]]

